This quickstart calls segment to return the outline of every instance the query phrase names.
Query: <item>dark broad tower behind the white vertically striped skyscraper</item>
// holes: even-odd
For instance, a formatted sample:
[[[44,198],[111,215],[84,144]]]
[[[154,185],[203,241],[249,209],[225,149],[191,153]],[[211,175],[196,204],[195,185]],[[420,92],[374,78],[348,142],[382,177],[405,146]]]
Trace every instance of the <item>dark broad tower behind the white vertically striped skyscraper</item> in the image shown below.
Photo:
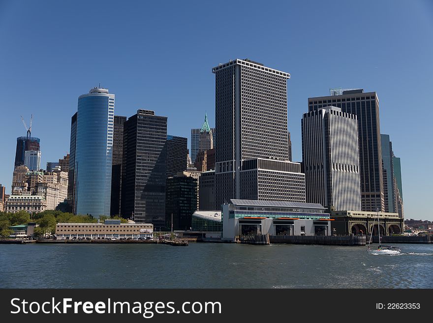
[[[311,97],[308,111],[329,105],[358,118],[361,209],[385,210],[382,176],[382,145],[380,141],[379,99],[376,92],[363,89],[342,90],[341,95]],[[339,94],[340,92],[333,92]]]

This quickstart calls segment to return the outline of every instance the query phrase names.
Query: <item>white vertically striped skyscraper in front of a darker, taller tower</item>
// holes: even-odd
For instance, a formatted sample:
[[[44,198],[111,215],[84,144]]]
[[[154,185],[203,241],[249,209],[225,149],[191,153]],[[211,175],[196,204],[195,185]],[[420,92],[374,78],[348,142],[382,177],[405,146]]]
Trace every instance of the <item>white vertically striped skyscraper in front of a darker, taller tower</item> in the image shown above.
[[[361,210],[358,121],[328,106],[301,120],[307,203],[334,210]]]

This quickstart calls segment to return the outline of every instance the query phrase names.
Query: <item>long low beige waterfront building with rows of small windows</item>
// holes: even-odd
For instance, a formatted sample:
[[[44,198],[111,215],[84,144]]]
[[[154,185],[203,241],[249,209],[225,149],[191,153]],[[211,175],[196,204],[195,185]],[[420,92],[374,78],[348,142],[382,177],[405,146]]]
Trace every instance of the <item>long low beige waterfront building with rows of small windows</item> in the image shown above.
[[[121,220],[105,220],[104,223],[58,223],[56,235],[62,238],[152,238],[154,226],[150,223],[121,223]]]

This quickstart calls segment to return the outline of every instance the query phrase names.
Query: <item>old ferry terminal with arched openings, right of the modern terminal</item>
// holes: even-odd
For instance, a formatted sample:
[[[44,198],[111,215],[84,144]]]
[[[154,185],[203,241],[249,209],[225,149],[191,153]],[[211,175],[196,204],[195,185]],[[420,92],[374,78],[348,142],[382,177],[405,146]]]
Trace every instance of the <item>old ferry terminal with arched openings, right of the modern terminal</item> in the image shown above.
[[[377,217],[381,235],[401,234],[403,232],[403,218],[398,213],[371,211],[331,211],[333,231],[337,235],[378,235]]]

